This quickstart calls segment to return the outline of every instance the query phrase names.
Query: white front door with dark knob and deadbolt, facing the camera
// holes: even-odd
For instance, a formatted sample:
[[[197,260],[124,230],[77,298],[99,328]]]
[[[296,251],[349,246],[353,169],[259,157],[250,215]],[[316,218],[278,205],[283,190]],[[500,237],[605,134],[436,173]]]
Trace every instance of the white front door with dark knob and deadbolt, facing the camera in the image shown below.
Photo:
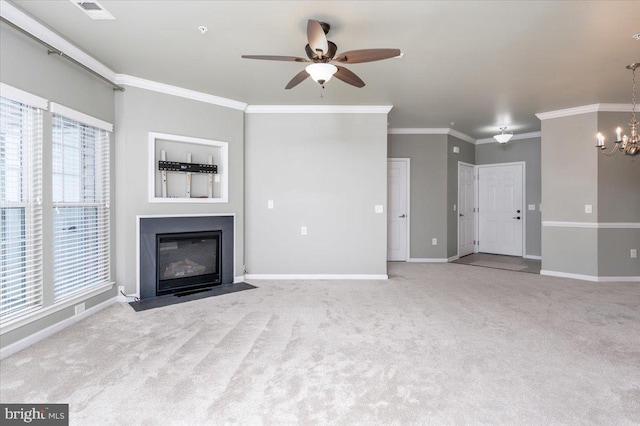
[[[523,167],[478,167],[478,249],[522,256]]]

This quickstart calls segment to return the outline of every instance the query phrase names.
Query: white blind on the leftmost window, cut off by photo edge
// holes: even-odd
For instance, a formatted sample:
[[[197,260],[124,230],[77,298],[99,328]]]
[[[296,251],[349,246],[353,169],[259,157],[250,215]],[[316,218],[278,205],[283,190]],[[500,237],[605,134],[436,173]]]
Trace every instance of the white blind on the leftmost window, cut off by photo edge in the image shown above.
[[[42,116],[39,108],[0,97],[2,323],[42,306]]]

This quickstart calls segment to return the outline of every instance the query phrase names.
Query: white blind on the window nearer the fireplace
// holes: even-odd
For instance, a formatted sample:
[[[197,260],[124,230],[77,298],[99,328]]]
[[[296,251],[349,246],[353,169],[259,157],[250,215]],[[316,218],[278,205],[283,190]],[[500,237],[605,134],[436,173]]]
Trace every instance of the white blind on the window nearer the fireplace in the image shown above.
[[[110,282],[109,133],[53,114],[52,145],[53,290],[59,301]]]

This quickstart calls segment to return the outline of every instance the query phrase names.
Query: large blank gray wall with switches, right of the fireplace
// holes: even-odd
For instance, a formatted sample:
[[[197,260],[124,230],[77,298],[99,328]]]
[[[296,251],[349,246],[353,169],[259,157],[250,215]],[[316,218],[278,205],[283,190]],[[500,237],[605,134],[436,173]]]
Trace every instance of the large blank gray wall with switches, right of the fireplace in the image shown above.
[[[249,114],[245,129],[248,273],[386,274],[387,115]]]

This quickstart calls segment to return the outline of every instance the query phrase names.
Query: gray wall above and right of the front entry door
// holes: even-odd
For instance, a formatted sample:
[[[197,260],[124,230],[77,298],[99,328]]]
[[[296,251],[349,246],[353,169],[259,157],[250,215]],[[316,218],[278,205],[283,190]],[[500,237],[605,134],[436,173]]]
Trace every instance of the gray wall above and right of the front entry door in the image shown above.
[[[526,163],[526,199],[524,211],[526,214],[525,255],[541,255],[542,217],[539,206],[541,202],[541,139],[520,139],[507,144],[487,143],[476,145],[476,164],[497,164],[524,161]],[[535,210],[528,210],[529,204],[535,205]]]

